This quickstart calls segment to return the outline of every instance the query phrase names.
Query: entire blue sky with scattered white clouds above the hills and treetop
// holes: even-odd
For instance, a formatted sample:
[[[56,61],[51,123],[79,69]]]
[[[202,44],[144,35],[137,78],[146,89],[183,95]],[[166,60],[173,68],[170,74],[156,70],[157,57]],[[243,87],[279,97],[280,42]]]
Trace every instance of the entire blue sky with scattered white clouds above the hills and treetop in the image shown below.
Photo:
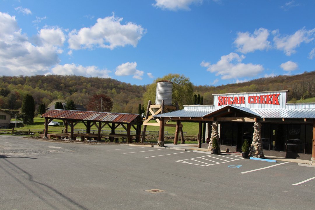
[[[222,85],[315,70],[315,1],[0,0],[0,75]]]

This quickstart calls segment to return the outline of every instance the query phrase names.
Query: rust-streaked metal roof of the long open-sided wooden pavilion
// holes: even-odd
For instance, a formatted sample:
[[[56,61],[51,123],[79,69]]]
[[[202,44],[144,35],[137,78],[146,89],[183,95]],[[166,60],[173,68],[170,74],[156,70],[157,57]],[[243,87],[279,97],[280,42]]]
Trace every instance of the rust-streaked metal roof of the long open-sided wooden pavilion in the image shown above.
[[[113,123],[131,123],[139,121],[138,114],[122,114],[97,111],[77,111],[77,110],[58,110],[53,109],[41,115],[45,118],[53,119],[72,119],[77,121],[97,121]]]

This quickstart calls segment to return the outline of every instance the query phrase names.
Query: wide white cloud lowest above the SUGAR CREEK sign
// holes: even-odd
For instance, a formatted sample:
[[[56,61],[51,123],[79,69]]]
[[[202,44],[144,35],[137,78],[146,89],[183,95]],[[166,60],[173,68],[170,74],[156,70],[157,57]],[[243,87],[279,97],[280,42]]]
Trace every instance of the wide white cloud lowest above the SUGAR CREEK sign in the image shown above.
[[[236,53],[221,56],[216,64],[202,62],[200,65],[207,67],[207,71],[215,73],[216,76],[221,75],[221,79],[253,77],[264,70],[264,67],[259,64],[244,64],[241,61],[245,58],[244,55],[239,56]]]

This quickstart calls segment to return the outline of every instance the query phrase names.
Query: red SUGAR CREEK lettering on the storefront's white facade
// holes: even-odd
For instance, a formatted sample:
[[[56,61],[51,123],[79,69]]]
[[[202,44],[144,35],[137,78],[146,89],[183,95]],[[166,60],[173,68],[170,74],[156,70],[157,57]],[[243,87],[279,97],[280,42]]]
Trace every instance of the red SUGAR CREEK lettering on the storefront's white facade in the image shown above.
[[[266,94],[266,95],[250,95],[244,96],[218,96],[218,106],[233,105],[233,104],[245,104],[247,100],[248,104],[272,104],[280,105],[279,96],[281,94]]]

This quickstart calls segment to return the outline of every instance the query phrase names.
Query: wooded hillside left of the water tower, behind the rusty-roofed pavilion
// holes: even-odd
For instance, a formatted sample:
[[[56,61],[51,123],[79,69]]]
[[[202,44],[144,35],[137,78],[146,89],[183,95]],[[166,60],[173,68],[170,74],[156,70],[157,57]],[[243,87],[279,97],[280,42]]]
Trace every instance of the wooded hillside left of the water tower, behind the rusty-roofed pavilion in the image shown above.
[[[31,94],[35,105],[46,106],[55,101],[73,100],[76,104],[88,105],[94,94],[111,97],[113,112],[137,113],[142,103],[145,86],[131,85],[111,78],[37,75],[31,77],[0,77],[0,108],[19,109],[23,97]]]

